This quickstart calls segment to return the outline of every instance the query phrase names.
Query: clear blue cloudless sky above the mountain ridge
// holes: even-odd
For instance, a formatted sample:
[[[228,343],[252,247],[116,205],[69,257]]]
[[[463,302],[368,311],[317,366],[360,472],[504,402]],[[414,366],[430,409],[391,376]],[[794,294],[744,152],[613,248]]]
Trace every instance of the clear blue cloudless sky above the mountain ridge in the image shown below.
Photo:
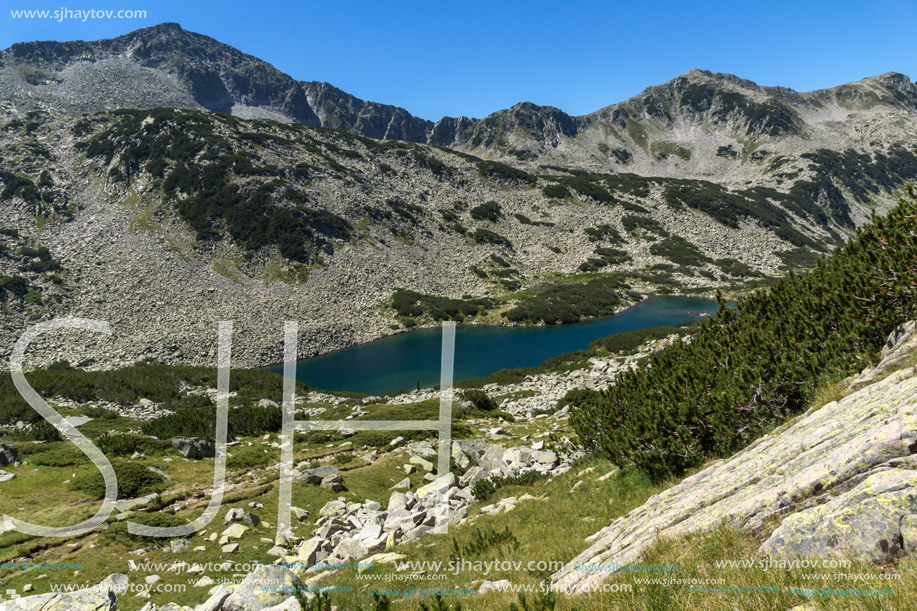
[[[917,76],[917,3],[210,2],[0,0],[0,47],[94,40],[175,21],[277,66],[415,115],[521,101],[585,114],[692,68],[800,91]],[[804,5],[804,6],[800,6]],[[13,19],[10,10],[143,9],[147,18]]]

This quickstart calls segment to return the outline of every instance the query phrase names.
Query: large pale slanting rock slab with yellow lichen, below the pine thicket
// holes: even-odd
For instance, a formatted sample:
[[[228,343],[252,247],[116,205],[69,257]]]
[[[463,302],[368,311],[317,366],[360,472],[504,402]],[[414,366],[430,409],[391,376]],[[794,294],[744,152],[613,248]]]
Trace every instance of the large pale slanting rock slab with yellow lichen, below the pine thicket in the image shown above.
[[[582,591],[608,573],[577,566],[634,564],[657,536],[721,524],[759,531],[777,516],[782,523],[761,548],[771,555],[886,560],[907,551],[917,535],[917,374],[908,368],[875,380],[917,348],[913,323],[889,344],[878,366],[851,381],[851,388],[868,385],[810,409],[618,518],[589,537],[592,545],[554,583]]]

